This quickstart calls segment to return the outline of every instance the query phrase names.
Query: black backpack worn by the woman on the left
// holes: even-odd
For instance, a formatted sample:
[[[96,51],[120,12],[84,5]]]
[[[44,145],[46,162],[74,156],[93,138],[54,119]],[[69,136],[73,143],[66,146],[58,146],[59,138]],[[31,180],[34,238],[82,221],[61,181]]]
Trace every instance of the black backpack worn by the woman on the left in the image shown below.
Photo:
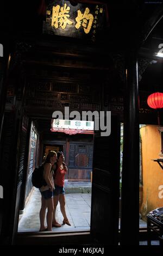
[[[32,184],[34,187],[40,188],[47,185],[45,179],[43,179],[43,167],[44,164],[36,167],[32,173]]]

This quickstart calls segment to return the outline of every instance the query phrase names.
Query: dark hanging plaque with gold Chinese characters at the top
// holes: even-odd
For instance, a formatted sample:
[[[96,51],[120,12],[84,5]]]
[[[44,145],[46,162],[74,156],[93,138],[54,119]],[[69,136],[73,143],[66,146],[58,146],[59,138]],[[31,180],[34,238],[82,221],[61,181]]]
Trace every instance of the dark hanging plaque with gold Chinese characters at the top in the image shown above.
[[[105,6],[102,4],[52,1],[47,4],[43,33],[96,40],[104,28]]]

